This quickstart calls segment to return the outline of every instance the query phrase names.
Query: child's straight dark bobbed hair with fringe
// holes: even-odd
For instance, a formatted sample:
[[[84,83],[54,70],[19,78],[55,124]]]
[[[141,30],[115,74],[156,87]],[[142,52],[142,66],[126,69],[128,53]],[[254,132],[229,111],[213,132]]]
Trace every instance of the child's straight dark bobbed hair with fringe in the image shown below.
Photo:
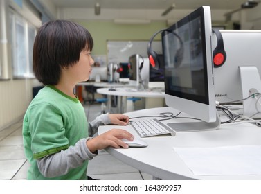
[[[35,37],[35,77],[44,85],[57,85],[61,69],[78,62],[84,49],[93,49],[93,39],[86,28],[66,20],[48,21]]]

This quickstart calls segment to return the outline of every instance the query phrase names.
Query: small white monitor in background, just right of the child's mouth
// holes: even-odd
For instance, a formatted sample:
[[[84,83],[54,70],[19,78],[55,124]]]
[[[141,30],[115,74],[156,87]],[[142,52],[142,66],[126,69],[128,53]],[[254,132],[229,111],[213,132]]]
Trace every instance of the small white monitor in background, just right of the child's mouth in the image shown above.
[[[108,68],[107,67],[93,67],[89,75],[90,81],[108,81]]]

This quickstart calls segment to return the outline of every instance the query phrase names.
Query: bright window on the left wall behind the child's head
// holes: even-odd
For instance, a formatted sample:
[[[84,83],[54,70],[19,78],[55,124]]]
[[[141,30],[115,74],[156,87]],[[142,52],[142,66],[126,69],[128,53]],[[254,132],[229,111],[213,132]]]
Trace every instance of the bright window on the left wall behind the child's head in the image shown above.
[[[12,75],[33,78],[33,42],[36,28],[16,12],[10,12],[12,33]]]

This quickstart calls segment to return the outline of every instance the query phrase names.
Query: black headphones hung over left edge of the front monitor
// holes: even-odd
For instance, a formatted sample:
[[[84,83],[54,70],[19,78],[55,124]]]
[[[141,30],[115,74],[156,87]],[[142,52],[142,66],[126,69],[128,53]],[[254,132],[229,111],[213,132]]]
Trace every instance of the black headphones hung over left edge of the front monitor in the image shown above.
[[[179,37],[179,35],[177,35],[177,33],[174,33],[172,30],[168,30],[168,29],[159,30],[156,33],[154,33],[154,35],[152,35],[152,37],[150,38],[149,44],[147,45],[147,55],[149,56],[150,64],[152,65],[152,67],[154,69],[159,69],[159,66],[160,66],[159,58],[158,58],[157,53],[152,50],[152,41],[153,41],[154,37],[156,37],[156,35],[158,35],[161,32],[172,33],[176,37],[178,37],[181,47],[177,50],[174,61],[175,61],[175,66],[179,66],[183,60],[183,53],[184,53],[183,41],[182,41],[181,37]]]

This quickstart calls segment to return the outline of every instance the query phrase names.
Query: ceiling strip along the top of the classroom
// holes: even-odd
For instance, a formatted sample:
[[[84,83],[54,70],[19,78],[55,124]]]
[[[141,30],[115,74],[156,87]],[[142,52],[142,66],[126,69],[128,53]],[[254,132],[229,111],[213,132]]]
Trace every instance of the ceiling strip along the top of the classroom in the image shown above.
[[[160,9],[165,10],[174,3],[175,9],[192,9],[210,6],[211,9],[234,10],[246,0],[52,0],[57,7],[94,8],[100,3],[101,8],[109,9]]]

